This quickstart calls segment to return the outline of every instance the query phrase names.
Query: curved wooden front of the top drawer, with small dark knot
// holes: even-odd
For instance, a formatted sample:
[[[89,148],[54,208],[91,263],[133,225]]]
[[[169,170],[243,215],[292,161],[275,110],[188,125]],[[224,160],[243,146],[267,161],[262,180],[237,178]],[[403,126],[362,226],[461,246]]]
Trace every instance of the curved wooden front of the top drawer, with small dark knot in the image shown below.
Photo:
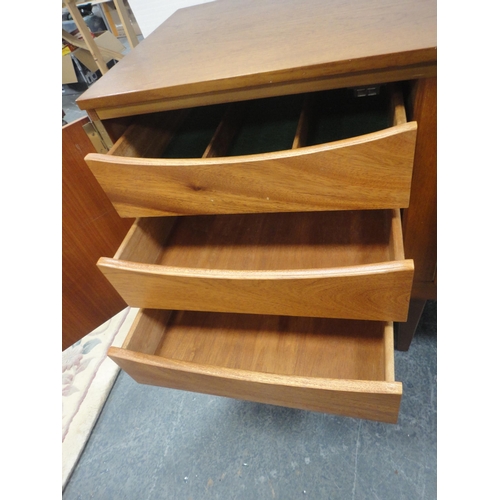
[[[416,123],[330,144],[244,157],[85,157],[122,217],[401,208]]]

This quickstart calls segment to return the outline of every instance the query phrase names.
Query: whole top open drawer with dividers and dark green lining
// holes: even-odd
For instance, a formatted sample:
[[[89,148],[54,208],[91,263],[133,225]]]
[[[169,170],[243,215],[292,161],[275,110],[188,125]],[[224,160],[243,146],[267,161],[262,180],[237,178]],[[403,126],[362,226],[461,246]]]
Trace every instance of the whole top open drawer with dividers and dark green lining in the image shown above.
[[[417,124],[381,89],[142,115],[85,159],[122,217],[404,208]]]

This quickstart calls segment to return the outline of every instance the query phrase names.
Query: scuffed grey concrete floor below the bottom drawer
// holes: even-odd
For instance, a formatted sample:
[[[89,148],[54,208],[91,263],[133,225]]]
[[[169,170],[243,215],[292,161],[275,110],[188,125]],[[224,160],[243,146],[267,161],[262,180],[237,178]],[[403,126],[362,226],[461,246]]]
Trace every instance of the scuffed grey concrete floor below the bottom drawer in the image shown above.
[[[408,352],[399,422],[137,384],[120,372],[63,492],[72,499],[437,498],[437,303]]]

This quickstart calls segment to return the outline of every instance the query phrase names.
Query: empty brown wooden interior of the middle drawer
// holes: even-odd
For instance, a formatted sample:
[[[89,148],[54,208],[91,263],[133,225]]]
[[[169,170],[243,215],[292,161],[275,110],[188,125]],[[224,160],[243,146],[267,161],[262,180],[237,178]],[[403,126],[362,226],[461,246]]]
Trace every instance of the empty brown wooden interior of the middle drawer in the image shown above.
[[[171,267],[322,269],[403,260],[396,210],[141,219],[115,259]]]

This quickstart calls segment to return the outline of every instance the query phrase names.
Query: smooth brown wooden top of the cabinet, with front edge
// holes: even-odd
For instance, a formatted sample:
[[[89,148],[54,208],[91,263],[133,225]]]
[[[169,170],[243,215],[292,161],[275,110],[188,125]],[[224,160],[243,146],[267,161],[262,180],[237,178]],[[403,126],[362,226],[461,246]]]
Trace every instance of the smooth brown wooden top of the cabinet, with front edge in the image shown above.
[[[216,0],[180,9],[81,109],[435,65],[436,0]]]

